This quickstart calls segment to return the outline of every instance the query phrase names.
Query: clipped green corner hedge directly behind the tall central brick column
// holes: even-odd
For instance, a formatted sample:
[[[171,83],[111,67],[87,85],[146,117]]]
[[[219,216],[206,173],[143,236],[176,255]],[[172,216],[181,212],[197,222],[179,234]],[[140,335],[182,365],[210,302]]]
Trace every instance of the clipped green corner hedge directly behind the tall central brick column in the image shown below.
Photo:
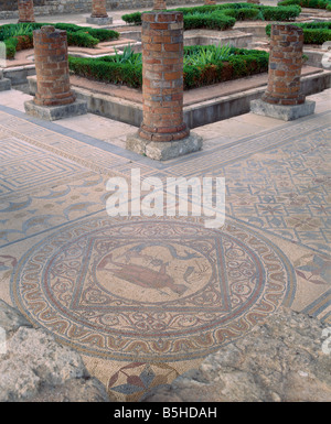
[[[218,47],[220,48],[220,47]],[[184,47],[184,57],[201,51],[215,51],[217,47],[190,46]],[[224,80],[245,77],[267,72],[268,53],[255,50],[227,47],[228,57],[225,61],[212,61],[202,65],[184,65],[184,89],[202,87]],[[75,74],[104,83],[125,84],[129,87],[142,87],[141,53],[129,56],[129,62],[122,61],[124,55],[105,56],[99,58],[68,57],[70,69]]]

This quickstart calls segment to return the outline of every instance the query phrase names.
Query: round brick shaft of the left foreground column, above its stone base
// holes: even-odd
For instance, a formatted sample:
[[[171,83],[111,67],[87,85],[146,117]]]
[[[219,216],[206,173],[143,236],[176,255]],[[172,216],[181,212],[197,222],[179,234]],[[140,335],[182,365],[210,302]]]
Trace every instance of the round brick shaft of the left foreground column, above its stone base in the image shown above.
[[[34,102],[41,106],[62,106],[75,101],[71,90],[67,62],[66,31],[42,26],[33,31],[36,70]]]

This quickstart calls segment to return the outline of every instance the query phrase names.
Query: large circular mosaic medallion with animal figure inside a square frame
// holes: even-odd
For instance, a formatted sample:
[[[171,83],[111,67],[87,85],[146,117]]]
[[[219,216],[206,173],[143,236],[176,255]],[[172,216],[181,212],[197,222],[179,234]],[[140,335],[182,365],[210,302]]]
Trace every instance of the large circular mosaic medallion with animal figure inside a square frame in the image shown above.
[[[76,349],[160,362],[239,337],[290,302],[295,274],[247,227],[95,219],[32,248],[12,283],[18,307]]]

